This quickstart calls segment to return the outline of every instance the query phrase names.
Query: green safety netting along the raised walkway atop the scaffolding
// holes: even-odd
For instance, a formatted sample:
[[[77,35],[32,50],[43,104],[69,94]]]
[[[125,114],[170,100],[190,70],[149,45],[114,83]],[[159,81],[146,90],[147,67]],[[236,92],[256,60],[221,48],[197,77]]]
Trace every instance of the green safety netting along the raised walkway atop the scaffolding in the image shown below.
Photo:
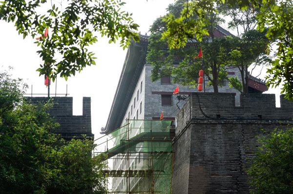
[[[166,141],[170,139],[171,121],[164,120],[127,120],[125,125],[96,140],[96,153],[120,153],[130,149],[135,152],[139,142]],[[163,140],[162,140],[163,138]],[[165,138],[165,139],[164,139]],[[143,152],[150,152],[151,147],[145,143]],[[168,145],[153,146],[153,152],[171,151]]]

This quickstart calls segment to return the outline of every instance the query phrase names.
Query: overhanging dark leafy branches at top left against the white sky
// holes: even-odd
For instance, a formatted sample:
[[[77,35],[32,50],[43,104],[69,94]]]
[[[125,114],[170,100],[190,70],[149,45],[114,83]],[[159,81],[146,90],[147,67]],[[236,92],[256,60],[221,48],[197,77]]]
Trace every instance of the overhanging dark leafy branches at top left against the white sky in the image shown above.
[[[124,4],[121,0],[71,0],[60,4],[52,0],[4,0],[0,1],[0,19],[15,22],[23,38],[39,38],[35,43],[41,47],[37,53],[43,64],[38,71],[54,81],[58,74],[67,79],[95,64],[94,54],[87,49],[98,41],[94,32],[107,36],[109,43],[120,39],[124,49],[130,38],[139,40],[134,32],[138,25],[131,14],[120,11]],[[50,8],[42,12],[47,6]],[[49,33],[43,35],[46,29]],[[62,59],[58,60],[60,54]]]

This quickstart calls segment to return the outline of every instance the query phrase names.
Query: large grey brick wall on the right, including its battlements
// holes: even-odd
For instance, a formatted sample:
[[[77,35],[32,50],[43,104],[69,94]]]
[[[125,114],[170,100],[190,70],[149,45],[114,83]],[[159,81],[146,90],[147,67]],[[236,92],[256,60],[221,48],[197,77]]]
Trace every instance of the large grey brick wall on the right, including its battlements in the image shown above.
[[[233,93],[192,93],[176,117],[172,194],[249,194],[256,136],[293,124],[293,103],[280,101],[241,95],[236,107]]]

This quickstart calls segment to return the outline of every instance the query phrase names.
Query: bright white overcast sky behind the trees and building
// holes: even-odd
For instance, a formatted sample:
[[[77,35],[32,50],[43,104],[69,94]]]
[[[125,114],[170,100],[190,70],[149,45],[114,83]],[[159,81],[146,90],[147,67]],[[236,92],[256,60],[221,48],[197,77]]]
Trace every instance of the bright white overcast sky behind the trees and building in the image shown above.
[[[149,26],[156,18],[166,13],[167,5],[174,2],[174,0],[124,1],[126,4],[123,9],[133,13],[132,18],[140,25],[139,31],[143,35],[148,32]],[[15,29],[13,23],[0,20],[0,71],[2,68],[7,69],[8,66],[12,66],[13,77],[23,78],[29,85],[27,93],[31,93],[31,85],[33,85],[33,93],[47,93],[44,77],[39,77],[39,73],[36,72],[42,64],[41,58],[36,53],[40,49],[34,44],[34,39],[31,37],[23,39]],[[73,97],[74,115],[82,115],[82,98],[91,97],[92,133],[97,138],[100,136],[100,129],[105,127],[107,121],[126,50],[124,51],[119,44],[108,44],[106,38],[99,39],[96,44],[90,46],[90,50],[96,54],[97,65],[86,67],[75,77],[68,78],[67,82],[63,78],[58,78],[57,94],[66,93],[66,84],[68,84],[69,96]],[[256,73],[256,70],[254,71]],[[260,78],[263,77],[264,74]],[[50,89],[51,94],[55,93],[55,83],[51,84]],[[270,90],[268,93],[276,92],[279,93],[279,90]]]

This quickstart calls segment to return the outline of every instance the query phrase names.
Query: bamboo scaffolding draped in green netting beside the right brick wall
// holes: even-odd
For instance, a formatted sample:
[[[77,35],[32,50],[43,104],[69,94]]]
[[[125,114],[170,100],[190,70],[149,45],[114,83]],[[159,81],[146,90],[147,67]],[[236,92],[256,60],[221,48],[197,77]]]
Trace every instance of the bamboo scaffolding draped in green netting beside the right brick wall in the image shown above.
[[[170,194],[174,128],[170,120],[126,120],[95,140],[96,157],[107,163],[108,193]]]

